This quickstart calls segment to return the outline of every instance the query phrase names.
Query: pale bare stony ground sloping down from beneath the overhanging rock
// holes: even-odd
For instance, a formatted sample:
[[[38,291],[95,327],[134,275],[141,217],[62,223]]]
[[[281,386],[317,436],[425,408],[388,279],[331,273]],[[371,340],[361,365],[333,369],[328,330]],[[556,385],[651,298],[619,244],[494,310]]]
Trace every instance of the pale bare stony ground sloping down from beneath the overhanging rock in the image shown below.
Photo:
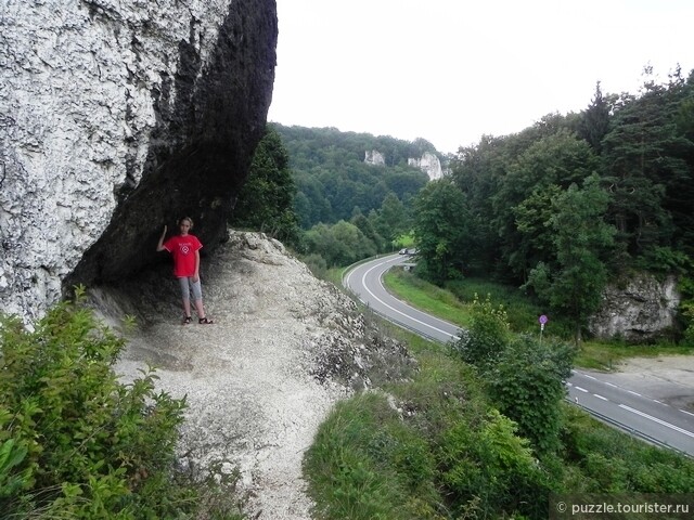
[[[252,518],[309,519],[301,460],[319,425],[338,400],[375,377],[402,377],[413,362],[265,235],[230,231],[229,243],[203,259],[201,277],[213,325],[195,316],[181,325],[166,265],[118,290],[94,291],[106,321],[127,313],[141,324],[116,372],[128,380],[155,365],[157,387],[187,396],[182,461],[239,469]]]

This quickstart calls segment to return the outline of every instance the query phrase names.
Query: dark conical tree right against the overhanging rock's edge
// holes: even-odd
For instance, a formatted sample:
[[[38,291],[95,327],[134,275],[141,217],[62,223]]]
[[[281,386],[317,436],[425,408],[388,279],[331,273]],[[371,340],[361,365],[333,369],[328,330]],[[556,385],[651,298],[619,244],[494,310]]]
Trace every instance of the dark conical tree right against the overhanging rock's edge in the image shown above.
[[[288,164],[282,138],[268,126],[239,194],[233,225],[266,232],[288,243],[297,242],[298,219],[293,205],[296,187]]]

